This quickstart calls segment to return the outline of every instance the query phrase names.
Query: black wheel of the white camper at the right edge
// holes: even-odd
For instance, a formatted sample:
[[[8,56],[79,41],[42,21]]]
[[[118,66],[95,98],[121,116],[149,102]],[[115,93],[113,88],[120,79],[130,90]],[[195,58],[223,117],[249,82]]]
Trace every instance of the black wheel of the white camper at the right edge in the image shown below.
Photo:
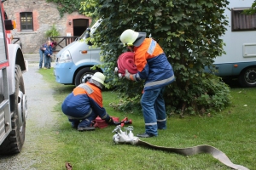
[[[241,71],[239,83],[244,88],[256,87],[256,67],[249,67]]]

